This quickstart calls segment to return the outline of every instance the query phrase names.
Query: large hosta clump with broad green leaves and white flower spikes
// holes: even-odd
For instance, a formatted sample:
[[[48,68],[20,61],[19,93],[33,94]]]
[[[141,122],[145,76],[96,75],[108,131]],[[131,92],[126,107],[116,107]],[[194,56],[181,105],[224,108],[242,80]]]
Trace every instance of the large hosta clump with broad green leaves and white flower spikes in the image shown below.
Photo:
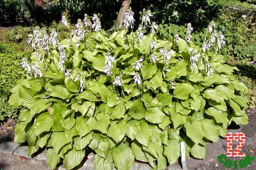
[[[190,41],[191,24],[185,40],[156,37],[150,16],[144,10],[134,31],[129,9],[112,35],[97,15],[73,30],[63,16],[70,36],[61,41],[36,28],[28,40],[35,52],[9,100],[23,108],[15,142],[27,141],[30,155],[46,147],[52,168],[61,159],[75,168],[90,149],[95,169],[131,169],[135,160],[164,169],[179,158],[180,142],[203,159],[232,121],[247,124],[247,88],[217,54],[224,41],[214,23],[202,48]]]

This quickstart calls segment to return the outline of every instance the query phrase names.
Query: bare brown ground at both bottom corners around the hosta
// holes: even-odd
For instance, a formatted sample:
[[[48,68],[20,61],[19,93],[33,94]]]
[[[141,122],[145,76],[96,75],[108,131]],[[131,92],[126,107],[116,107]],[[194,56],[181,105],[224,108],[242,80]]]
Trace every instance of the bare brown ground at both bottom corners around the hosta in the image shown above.
[[[243,126],[231,125],[229,127],[229,133],[237,133],[242,132],[246,136],[245,145],[243,146],[241,153],[250,154],[250,156],[256,155],[256,109],[247,110],[247,116],[249,117],[249,124]],[[13,129],[14,122],[9,122],[9,125],[3,125],[5,128],[0,127],[3,131],[4,129],[9,130]],[[13,138],[13,132],[10,130],[8,133],[5,133],[5,137],[8,139]],[[1,134],[0,134],[0,142],[1,142]],[[233,148],[236,148],[237,143],[233,144]],[[188,169],[195,169],[195,170],[214,170],[214,169],[228,169],[225,168],[223,164],[218,162],[217,156],[221,154],[226,154],[226,140],[224,138],[220,138],[218,142],[208,143],[207,145],[207,156],[204,160],[189,158],[186,160],[187,168]],[[229,159],[232,160],[241,160],[242,158],[234,158],[230,157]],[[172,164],[171,167],[181,168],[180,162],[176,162]],[[19,156],[11,156],[0,154],[0,170],[2,169],[49,169],[46,165],[40,162],[34,162],[33,160],[26,160],[24,158],[20,158]],[[233,168],[230,168],[233,169]],[[238,166],[238,169],[239,166]],[[250,166],[246,168],[248,170],[255,170],[256,169],[256,160],[254,160]]]

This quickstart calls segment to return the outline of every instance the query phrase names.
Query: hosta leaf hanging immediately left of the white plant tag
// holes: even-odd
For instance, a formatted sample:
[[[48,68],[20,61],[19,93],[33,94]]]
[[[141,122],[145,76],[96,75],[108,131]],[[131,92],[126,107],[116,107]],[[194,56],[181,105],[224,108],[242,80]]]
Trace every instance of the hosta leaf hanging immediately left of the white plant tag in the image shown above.
[[[163,154],[167,157],[168,163],[171,165],[177,161],[180,156],[180,143],[179,140],[170,139],[167,146],[164,146]]]

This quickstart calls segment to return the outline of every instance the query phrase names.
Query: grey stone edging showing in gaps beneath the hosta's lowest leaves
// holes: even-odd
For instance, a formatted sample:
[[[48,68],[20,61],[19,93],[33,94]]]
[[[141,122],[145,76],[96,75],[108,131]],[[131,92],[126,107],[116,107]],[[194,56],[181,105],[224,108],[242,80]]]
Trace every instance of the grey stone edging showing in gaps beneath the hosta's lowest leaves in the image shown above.
[[[34,158],[31,158],[28,156],[28,147],[27,146],[19,146],[19,144],[14,143],[14,142],[3,142],[0,143],[0,153],[2,154],[9,154],[9,155],[15,155],[15,156],[23,156],[24,158],[28,160],[36,160],[38,162],[42,162],[46,164],[47,162],[47,151],[44,150],[42,153],[36,155]],[[93,160],[92,159],[86,160],[82,168],[80,169],[94,169],[93,168]],[[64,165],[61,165],[59,169],[65,169]],[[150,165],[148,164],[143,164],[143,163],[134,163],[133,170],[149,170]],[[172,168],[168,167],[168,170],[180,170],[181,168]]]

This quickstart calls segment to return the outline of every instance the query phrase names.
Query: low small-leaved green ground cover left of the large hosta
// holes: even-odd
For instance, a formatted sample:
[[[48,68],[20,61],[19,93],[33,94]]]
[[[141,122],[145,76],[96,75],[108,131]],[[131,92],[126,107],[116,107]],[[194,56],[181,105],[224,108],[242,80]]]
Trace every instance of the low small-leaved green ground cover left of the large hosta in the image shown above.
[[[22,52],[18,44],[0,43],[0,123],[7,118],[18,117],[18,109],[7,102],[16,80],[23,74],[20,62],[29,57],[30,52]]]

